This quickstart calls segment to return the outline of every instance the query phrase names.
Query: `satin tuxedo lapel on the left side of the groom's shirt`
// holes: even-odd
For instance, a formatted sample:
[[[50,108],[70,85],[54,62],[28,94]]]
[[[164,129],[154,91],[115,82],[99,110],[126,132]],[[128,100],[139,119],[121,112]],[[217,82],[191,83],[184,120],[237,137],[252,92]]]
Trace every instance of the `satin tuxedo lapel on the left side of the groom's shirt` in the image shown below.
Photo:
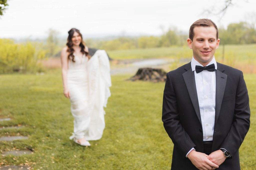
[[[200,116],[200,109],[199,109],[199,103],[198,103],[198,97],[197,97],[197,91],[196,91],[196,81],[195,81],[195,74],[191,69],[191,63],[188,63],[185,67],[185,70],[187,70],[185,73],[182,74],[183,79],[185,81],[185,84],[187,86],[188,94],[190,97],[190,100],[194,106],[196,115],[202,125],[201,122],[201,116]]]

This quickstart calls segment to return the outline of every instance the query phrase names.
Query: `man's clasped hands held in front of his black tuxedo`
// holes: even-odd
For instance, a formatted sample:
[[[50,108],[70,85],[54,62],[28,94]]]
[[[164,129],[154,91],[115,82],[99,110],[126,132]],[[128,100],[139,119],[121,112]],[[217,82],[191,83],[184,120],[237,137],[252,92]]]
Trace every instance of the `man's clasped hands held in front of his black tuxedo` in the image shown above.
[[[226,159],[221,150],[214,151],[210,155],[192,150],[187,157],[200,170],[216,169]]]

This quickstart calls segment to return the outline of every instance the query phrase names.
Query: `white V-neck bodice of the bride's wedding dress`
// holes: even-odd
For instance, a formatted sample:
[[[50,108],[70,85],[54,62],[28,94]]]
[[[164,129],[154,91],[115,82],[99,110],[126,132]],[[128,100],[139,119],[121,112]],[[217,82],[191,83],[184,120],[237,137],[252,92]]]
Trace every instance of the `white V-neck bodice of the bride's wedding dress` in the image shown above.
[[[74,55],[74,61],[75,62],[73,62],[72,60],[68,60],[68,70],[85,70],[88,62],[88,57],[83,54],[82,59],[80,59],[77,55]]]

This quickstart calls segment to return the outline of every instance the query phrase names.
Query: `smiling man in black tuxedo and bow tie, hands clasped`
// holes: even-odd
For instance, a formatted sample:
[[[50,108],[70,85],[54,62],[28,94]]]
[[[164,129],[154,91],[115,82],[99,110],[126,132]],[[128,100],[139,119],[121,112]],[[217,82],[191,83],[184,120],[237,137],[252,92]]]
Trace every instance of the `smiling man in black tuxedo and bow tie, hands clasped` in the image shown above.
[[[218,29],[209,19],[189,29],[191,62],[167,73],[162,121],[174,143],[172,170],[238,170],[250,126],[243,73],[217,63]]]

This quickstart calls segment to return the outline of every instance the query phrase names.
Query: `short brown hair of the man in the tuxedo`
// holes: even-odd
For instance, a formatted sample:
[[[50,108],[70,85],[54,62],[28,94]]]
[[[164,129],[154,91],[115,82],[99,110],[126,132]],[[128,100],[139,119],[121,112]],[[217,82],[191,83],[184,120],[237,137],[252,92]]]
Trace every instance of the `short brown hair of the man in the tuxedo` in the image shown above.
[[[210,19],[199,19],[196,22],[194,22],[189,28],[189,39],[193,41],[193,38],[195,36],[194,34],[195,27],[211,27],[211,26],[213,26],[216,29],[216,39],[218,40],[218,35],[219,35],[218,28],[216,24]]]

